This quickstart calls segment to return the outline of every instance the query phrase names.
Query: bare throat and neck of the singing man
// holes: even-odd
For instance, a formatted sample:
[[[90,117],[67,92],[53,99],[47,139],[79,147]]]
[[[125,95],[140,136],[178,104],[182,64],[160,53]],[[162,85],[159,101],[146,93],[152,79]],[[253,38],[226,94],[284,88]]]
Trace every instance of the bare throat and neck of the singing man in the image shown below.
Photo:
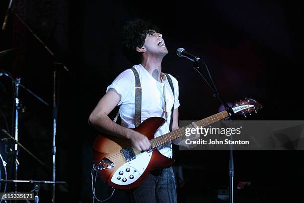
[[[152,75],[152,77],[161,82],[160,73],[161,73],[161,61],[162,58],[145,58],[142,61],[142,66]]]

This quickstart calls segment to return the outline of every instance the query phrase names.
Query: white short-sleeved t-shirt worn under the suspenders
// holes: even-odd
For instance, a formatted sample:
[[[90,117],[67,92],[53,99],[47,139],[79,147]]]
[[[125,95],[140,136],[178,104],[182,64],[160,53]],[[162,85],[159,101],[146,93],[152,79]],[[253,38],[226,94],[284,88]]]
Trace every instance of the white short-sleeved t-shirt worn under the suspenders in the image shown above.
[[[156,81],[152,75],[141,65],[133,66],[140,77],[142,87],[142,122],[150,117],[163,117],[164,115],[164,97],[163,86],[165,86],[167,121],[157,130],[154,137],[169,132],[171,119],[171,109],[173,106],[173,93],[168,80],[163,83]],[[174,109],[179,106],[178,101],[178,82],[170,75],[174,87]],[[107,88],[115,89],[121,95],[118,105],[122,125],[127,128],[135,128],[135,76],[131,69],[127,69],[117,76],[113,83]],[[172,158],[171,142],[161,145],[157,148],[163,155]]]

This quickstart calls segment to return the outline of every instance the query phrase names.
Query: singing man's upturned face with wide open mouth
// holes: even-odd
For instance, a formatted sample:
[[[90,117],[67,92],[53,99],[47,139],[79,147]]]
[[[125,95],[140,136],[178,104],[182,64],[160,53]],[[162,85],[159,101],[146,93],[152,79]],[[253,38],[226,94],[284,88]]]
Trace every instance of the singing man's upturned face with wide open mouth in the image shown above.
[[[143,48],[145,48],[148,55],[165,56],[168,53],[167,47],[162,39],[162,34],[157,32],[147,35]]]

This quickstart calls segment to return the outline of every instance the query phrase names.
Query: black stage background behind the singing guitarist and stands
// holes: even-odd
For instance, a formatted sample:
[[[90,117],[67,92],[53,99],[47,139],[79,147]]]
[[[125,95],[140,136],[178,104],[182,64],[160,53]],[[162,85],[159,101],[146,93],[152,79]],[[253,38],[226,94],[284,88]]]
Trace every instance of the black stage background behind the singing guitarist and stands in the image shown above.
[[[2,25],[8,0],[0,2]],[[263,105],[249,119],[302,120],[303,1],[208,0],[197,1],[62,1],[18,0],[14,12],[55,53],[48,51],[11,13],[0,31],[0,51],[18,48],[2,58],[0,69],[20,77],[21,83],[52,105],[53,61],[58,68],[59,117],[57,136],[57,202],[91,202],[91,145],[97,132],[88,126],[90,112],[106,87],[131,64],[122,55],[123,24],[136,17],[150,19],[161,30],[169,54],[162,70],[179,82],[179,118],[197,120],[218,112],[220,102],[191,68],[178,58],[179,47],[200,56],[209,66],[222,97],[235,102],[251,97]],[[52,108],[20,89],[26,111],[19,117],[19,141],[52,169]],[[0,78],[0,128],[12,130],[12,88]],[[115,112],[111,113],[113,116]],[[0,134],[1,138],[4,137]],[[11,154],[1,141],[0,153]],[[304,202],[303,151],[235,151],[235,184],[251,187],[235,192],[236,202]],[[228,151],[182,151],[175,148],[175,169],[183,170],[179,202],[220,202],[219,189],[228,187]],[[20,150],[19,179],[51,180],[50,171]],[[2,167],[2,166],[1,166]],[[178,177],[178,176],[177,176]],[[28,192],[31,184],[20,184]],[[11,189],[11,188],[10,188]],[[2,191],[0,191],[2,192]],[[98,181],[97,196],[109,189]],[[50,202],[51,187],[42,185],[41,202]],[[112,202],[126,201],[117,192]]]

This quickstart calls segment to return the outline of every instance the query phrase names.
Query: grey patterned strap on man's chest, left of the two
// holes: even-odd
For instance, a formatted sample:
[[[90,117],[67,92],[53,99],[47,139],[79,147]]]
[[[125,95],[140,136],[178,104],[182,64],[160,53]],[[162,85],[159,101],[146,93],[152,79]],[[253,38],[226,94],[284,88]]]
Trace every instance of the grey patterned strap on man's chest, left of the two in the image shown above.
[[[132,67],[135,76],[135,127],[142,123],[142,87],[137,70]]]

